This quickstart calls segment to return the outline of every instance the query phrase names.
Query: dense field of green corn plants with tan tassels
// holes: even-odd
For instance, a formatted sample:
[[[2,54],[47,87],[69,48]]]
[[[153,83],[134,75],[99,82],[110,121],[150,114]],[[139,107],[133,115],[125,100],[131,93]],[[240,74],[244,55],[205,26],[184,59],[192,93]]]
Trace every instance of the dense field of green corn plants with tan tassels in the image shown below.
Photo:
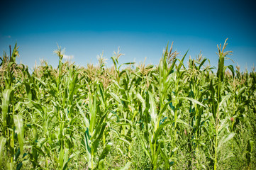
[[[0,169],[256,169],[256,73],[166,47],[157,66],[121,52],[28,70],[1,57]],[[187,65],[187,63],[186,63]]]

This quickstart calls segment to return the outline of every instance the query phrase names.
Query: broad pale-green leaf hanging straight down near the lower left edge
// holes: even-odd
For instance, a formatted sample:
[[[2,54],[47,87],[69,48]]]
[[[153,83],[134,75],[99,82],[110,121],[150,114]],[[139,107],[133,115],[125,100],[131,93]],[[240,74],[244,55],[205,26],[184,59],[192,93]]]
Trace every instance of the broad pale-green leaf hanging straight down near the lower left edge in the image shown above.
[[[18,144],[20,145],[21,153],[23,153],[23,138],[24,138],[24,128],[23,120],[21,115],[13,115],[14,124],[16,126],[16,132],[18,135]]]

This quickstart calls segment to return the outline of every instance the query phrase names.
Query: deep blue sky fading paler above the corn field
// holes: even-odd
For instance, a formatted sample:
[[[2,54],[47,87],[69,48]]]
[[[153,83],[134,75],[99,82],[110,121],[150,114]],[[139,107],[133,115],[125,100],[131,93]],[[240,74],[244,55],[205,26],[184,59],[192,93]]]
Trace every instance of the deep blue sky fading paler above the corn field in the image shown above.
[[[6,1],[0,10],[0,50],[17,42],[18,62],[32,68],[45,59],[54,67],[57,44],[81,66],[96,64],[104,51],[111,66],[120,47],[120,62],[158,64],[162,51],[191,57],[201,51],[217,67],[217,44],[228,38],[227,50],[242,69],[256,64],[255,1]],[[9,54],[9,53],[8,53]]]

